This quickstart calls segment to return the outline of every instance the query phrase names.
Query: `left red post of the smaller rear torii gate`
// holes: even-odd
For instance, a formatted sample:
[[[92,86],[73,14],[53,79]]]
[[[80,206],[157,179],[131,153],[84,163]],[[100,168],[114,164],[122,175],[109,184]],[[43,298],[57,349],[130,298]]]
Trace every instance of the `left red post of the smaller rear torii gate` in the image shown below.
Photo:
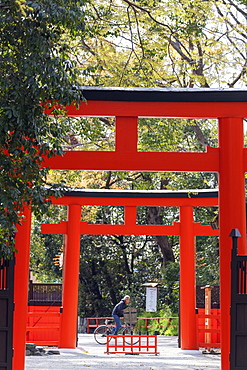
[[[75,348],[77,341],[80,221],[81,206],[77,204],[70,205],[64,254],[60,348]]]

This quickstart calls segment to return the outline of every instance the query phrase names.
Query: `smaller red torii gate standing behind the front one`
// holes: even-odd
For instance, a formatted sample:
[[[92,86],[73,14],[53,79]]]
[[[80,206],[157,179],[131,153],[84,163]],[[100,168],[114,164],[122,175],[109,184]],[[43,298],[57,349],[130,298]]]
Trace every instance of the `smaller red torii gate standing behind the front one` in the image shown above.
[[[80,235],[178,235],[180,236],[180,334],[181,348],[198,349],[196,324],[195,236],[217,236],[218,230],[194,222],[193,207],[218,205],[217,191],[87,191],[78,190],[53,198],[53,204],[68,205],[68,219],[43,224],[44,234],[66,235],[63,303],[59,346],[75,348],[78,311]],[[81,221],[84,205],[124,207],[123,225],[94,225]],[[180,220],[172,225],[137,225],[138,206],[177,206]]]

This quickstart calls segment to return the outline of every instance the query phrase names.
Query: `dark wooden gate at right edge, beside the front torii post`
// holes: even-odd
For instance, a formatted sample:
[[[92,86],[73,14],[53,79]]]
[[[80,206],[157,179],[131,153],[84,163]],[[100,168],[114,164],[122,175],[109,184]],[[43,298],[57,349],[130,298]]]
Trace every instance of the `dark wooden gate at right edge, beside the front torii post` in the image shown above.
[[[233,229],[230,369],[247,370],[247,256],[238,255],[238,229]],[[224,323],[222,323],[224,325]]]

